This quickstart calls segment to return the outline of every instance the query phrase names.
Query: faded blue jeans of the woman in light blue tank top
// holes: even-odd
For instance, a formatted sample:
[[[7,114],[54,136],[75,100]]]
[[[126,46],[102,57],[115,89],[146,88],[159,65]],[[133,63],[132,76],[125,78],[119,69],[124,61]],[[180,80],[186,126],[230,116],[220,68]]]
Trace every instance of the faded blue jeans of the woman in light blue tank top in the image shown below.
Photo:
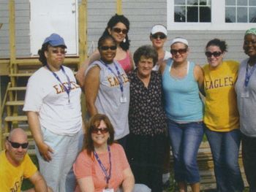
[[[198,183],[197,152],[203,139],[203,122],[176,123],[167,120],[177,182]]]

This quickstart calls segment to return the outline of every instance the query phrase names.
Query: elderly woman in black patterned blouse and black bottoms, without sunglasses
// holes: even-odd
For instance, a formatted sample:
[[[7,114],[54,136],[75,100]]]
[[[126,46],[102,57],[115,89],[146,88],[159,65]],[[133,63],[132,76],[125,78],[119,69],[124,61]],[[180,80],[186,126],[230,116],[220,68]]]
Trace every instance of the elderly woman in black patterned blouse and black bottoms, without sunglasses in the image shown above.
[[[161,74],[152,71],[157,51],[150,45],[135,51],[136,69],[129,74],[130,103],[127,156],[136,183],[152,192],[162,192],[162,167],[166,137],[165,112],[162,107]]]

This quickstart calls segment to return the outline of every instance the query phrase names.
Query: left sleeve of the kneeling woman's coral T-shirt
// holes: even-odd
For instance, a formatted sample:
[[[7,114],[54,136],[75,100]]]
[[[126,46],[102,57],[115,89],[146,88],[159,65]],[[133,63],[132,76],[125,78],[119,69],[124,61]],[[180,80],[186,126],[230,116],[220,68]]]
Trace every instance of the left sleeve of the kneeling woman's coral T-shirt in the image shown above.
[[[75,173],[75,177],[77,179],[83,178],[83,177],[90,177],[92,176],[92,166],[93,162],[89,155],[87,155],[86,150],[83,150],[79,155],[78,158],[75,161],[75,164],[73,164],[73,171]]]

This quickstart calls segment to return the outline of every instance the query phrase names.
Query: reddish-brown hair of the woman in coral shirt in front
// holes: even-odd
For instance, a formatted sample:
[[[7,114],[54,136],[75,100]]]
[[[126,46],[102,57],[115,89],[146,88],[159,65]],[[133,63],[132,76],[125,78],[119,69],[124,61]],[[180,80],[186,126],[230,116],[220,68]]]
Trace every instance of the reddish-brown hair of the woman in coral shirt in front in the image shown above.
[[[89,122],[86,124],[86,134],[83,139],[83,150],[87,150],[87,154],[91,155],[94,151],[94,141],[91,138],[91,130],[93,128],[98,128],[100,121],[103,120],[108,128],[110,138],[108,139],[108,145],[112,145],[114,142],[114,128],[107,115],[97,114],[90,118]]]

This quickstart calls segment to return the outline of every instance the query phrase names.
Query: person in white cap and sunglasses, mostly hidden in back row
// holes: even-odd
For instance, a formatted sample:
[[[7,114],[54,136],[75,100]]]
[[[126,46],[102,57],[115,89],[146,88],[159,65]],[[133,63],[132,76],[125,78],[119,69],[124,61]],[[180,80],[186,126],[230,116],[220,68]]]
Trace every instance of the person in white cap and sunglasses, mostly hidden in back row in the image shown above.
[[[153,68],[154,71],[158,71],[160,64],[172,57],[169,51],[164,50],[164,45],[167,40],[167,29],[165,26],[157,24],[151,29],[149,38],[152,42],[152,46],[157,50],[158,53],[158,61]]]

